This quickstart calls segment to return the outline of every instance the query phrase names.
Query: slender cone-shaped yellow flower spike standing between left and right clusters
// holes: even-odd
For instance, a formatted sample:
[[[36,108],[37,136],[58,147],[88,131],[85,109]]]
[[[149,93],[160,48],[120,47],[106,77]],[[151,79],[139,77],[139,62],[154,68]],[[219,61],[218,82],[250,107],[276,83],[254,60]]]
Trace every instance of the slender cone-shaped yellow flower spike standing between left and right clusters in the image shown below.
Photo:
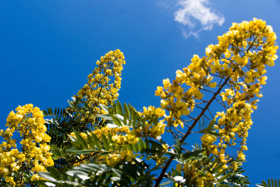
[[[119,96],[117,92],[121,88],[122,78],[120,76],[122,65],[125,64],[124,55],[119,49],[109,51],[101,56],[96,64],[98,68],[88,75],[87,84],[74,97],[89,99],[89,105],[97,106],[96,112],[100,114],[104,111],[98,108],[99,103],[112,104]]]

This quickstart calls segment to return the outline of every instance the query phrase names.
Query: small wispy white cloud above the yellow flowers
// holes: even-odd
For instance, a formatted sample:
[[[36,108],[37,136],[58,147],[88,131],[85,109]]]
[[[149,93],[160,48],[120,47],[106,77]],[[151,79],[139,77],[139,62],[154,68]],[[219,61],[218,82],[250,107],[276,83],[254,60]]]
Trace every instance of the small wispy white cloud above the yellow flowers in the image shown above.
[[[184,25],[182,27],[184,38],[191,35],[198,38],[200,31],[211,30],[214,24],[221,26],[224,23],[223,15],[214,13],[214,10],[207,5],[209,5],[208,0],[180,0],[178,2],[180,8],[174,13],[174,20]]]

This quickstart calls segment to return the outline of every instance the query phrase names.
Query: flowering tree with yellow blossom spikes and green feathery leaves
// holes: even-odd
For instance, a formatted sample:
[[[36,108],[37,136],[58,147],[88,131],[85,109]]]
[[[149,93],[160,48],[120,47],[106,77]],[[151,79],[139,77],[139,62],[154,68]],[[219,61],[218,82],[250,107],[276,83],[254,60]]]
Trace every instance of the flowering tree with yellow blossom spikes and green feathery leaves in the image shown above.
[[[206,56],[193,55],[175,80],[163,80],[155,92],[158,108],[138,112],[116,101],[125,64],[117,49],[96,62],[67,108],[40,111],[28,104],[10,112],[0,132],[1,186],[250,184],[241,166],[254,98],[262,97],[266,65],[277,59],[276,36],[254,18],[233,23],[218,40]],[[214,103],[224,110],[210,111]],[[191,133],[201,142],[189,147]]]

